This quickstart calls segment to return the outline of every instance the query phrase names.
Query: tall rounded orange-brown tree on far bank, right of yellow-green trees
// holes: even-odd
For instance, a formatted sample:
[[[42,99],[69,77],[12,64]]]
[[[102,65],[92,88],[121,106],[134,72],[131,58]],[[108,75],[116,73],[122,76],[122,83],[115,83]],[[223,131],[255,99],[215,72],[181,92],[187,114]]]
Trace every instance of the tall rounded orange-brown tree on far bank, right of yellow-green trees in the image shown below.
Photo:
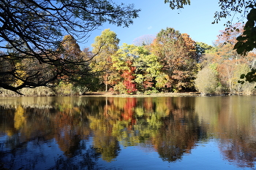
[[[193,88],[196,49],[195,42],[188,34],[181,34],[173,28],[162,29],[151,47],[170,77],[168,88],[176,91]]]

